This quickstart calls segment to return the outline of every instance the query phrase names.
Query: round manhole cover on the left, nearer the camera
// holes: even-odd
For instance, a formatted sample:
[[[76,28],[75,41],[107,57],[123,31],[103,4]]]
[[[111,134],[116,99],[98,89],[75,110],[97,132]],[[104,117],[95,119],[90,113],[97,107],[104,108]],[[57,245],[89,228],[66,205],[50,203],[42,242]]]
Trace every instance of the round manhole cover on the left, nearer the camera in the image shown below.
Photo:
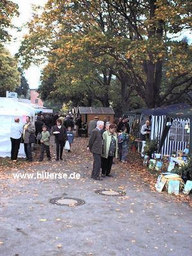
[[[49,200],[51,204],[77,206],[85,204],[84,200],[71,197],[56,197]]]

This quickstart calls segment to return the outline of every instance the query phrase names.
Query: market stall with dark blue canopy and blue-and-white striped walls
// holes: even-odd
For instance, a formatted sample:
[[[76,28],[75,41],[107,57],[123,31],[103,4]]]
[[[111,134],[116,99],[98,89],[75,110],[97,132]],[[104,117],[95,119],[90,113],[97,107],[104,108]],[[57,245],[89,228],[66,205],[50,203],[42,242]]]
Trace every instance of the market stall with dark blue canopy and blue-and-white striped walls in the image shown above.
[[[141,126],[147,119],[151,120],[150,139],[159,140],[159,153],[170,155],[172,151],[184,150],[189,143],[189,129],[186,129],[186,125],[191,124],[190,111],[188,104],[173,104],[154,109],[136,109],[125,115],[129,118],[131,133],[132,124],[135,120],[139,120],[140,130],[136,138],[140,138]]]

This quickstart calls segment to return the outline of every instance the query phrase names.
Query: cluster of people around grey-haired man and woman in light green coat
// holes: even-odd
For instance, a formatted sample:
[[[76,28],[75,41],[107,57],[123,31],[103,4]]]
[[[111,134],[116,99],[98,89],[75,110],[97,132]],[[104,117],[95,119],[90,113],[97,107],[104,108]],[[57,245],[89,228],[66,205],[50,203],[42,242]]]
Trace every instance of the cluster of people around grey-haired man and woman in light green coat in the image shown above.
[[[102,180],[106,176],[113,176],[111,167],[114,157],[126,163],[129,131],[129,120],[126,117],[119,118],[117,124],[111,124],[109,116],[104,121],[100,121],[98,116],[90,121],[88,149],[93,154],[92,179]]]

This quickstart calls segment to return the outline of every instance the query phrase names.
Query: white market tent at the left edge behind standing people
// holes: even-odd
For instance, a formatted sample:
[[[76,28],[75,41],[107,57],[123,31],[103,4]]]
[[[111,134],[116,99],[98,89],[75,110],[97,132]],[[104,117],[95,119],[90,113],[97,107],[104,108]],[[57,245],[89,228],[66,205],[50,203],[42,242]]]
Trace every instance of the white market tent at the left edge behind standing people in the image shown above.
[[[20,124],[26,123],[26,116],[31,116],[31,121],[35,120],[35,109],[29,104],[18,102],[17,99],[0,97],[0,157],[11,156],[10,127],[14,118],[19,117]],[[18,157],[25,157],[24,145],[20,144]]]

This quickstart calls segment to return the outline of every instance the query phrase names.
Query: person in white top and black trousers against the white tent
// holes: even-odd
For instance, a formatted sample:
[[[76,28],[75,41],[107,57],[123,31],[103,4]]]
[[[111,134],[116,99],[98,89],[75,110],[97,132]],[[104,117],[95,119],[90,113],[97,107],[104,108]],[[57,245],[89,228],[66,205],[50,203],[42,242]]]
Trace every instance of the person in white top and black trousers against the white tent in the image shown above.
[[[13,162],[17,161],[21,134],[22,125],[19,124],[19,118],[15,118],[15,122],[10,127],[10,139],[12,141],[11,159]]]

